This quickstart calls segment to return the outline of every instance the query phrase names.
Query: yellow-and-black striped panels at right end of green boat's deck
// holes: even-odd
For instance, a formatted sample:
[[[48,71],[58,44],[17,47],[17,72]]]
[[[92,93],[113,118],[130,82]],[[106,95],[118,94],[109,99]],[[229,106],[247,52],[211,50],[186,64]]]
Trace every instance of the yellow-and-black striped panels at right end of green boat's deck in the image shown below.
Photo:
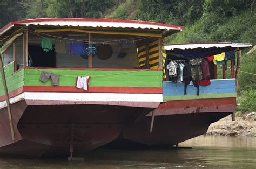
[[[163,55],[163,78],[166,78],[165,75],[165,59],[166,59],[166,52],[164,48],[164,43],[162,42],[162,55]],[[158,62],[159,62],[159,45],[158,40],[151,41],[149,43],[149,64],[150,69],[157,69],[158,68]],[[144,66],[146,62],[146,45],[142,45],[138,47],[138,57],[139,57],[139,67]]]

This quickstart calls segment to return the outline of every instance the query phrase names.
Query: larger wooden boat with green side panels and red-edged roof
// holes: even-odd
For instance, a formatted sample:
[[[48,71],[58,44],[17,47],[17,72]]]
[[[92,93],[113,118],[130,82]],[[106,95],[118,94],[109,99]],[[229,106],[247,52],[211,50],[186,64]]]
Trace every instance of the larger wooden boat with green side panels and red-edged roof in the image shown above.
[[[30,19],[4,26],[0,154],[72,157],[116,139],[163,102],[162,39],[181,30],[152,22],[82,18]],[[64,41],[66,47],[94,44],[97,53],[84,59],[44,52],[42,37],[51,39],[56,51]],[[146,60],[147,69],[140,69],[137,47],[152,42],[154,58]],[[59,85],[39,81],[42,72],[59,74]],[[78,76],[91,76],[87,91],[76,88]]]

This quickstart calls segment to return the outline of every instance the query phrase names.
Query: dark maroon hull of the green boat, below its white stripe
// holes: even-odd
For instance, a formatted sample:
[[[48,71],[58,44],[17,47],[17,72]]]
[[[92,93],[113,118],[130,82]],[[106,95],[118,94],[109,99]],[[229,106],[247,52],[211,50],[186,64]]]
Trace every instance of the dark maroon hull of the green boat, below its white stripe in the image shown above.
[[[28,101],[31,103],[31,101]],[[11,105],[15,141],[11,139],[8,111],[0,109],[0,155],[68,157],[110,143],[128,125],[152,108],[100,105],[28,105],[25,100]]]

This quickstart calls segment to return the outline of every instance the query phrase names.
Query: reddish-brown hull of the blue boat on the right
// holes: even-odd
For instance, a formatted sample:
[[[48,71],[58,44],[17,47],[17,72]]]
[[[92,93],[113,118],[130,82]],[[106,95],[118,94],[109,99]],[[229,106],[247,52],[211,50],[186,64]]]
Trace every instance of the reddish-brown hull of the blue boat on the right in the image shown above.
[[[127,126],[112,145],[177,145],[205,134],[211,123],[230,115],[234,110],[235,98],[167,101],[155,110],[151,133],[152,113]]]

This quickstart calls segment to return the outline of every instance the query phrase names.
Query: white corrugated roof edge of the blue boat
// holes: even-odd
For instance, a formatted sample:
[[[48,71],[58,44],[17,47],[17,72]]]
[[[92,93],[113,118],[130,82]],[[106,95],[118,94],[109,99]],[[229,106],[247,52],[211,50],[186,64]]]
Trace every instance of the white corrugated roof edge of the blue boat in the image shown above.
[[[193,50],[195,48],[224,48],[224,47],[232,47],[232,48],[247,48],[251,47],[252,44],[246,44],[246,43],[231,43],[231,42],[225,42],[225,43],[191,43],[191,44],[167,44],[165,45],[165,50]]]

